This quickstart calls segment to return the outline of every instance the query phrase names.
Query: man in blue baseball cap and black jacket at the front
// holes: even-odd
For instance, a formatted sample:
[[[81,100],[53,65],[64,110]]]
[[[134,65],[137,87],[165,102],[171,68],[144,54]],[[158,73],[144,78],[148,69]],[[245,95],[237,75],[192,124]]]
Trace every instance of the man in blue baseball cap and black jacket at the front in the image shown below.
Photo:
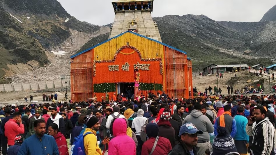
[[[194,124],[191,122],[183,124],[178,135],[181,142],[169,152],[169,155],[199,155],[197,134],[203,134],[203,132],[198,130]]]

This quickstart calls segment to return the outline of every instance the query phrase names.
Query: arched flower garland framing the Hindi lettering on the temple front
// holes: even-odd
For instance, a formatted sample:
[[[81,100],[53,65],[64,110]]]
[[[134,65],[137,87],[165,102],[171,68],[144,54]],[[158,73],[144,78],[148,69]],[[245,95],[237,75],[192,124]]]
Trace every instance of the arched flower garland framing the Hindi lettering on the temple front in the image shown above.
[[[133,49],[134,51],[136,51],[139,55],[139,58],[141,61],[159,61],[159,66],[160,66],[160,75],[163,75],[163,63],[162,63],[162,58],[147,58],[147,59],[144,59],[142,58],[142,55],[141,55],[141,52],[133,47],[133,46],[130,46],[130,45],[125,45],[125,46],[122,46],[121,48],[119,48],[115,55],[114,55],[114,58],[112,60],[94,60],[93,61],[93,76],[96,76],[96,63],[112,63],[116,60],[117,58],[117,55],[120,53],[120,51],[122,51],[122,49],[125,49],[125,48],[130,48],[130,49]]]

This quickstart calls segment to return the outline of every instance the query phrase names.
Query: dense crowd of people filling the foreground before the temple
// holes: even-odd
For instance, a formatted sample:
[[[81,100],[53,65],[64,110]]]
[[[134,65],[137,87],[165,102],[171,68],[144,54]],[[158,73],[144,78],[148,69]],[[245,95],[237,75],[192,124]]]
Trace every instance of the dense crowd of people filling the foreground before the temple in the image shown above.
[[[274,155],[276,95],[0,107],[3,155]],[[69,146],[71,149],[69,150]],[[8,147],[8,148],[7,148]]]

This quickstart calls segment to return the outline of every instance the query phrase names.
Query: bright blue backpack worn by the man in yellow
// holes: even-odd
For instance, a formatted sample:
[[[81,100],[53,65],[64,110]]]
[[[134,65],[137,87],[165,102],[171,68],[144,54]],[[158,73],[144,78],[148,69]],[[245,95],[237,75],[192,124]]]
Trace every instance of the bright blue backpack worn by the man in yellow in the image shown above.
[[[71,155],[85,155],[84,151],[84,136],[88,134],[94,134],[92,132],[87,132],[84,135],[79,135],[75,137],[75,141],[71,148]]]

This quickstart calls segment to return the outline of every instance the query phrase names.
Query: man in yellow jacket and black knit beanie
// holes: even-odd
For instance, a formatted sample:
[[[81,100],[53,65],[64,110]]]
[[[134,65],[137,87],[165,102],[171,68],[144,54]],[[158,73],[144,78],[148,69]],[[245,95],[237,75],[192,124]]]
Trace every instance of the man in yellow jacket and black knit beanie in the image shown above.
[[[84,151],[86,155],[102,155],[102,150],[99,147],[100,140],[97,140],[97,131],[99,130],[101,124],[97,117],[93,115],[88,115],[86,117],[86,125],[83,135],[87,132],[92,132],[93,134],[88,134],[84,136]],[[109,138],[102,140],[102,144],[105,145],[109,141]]]

